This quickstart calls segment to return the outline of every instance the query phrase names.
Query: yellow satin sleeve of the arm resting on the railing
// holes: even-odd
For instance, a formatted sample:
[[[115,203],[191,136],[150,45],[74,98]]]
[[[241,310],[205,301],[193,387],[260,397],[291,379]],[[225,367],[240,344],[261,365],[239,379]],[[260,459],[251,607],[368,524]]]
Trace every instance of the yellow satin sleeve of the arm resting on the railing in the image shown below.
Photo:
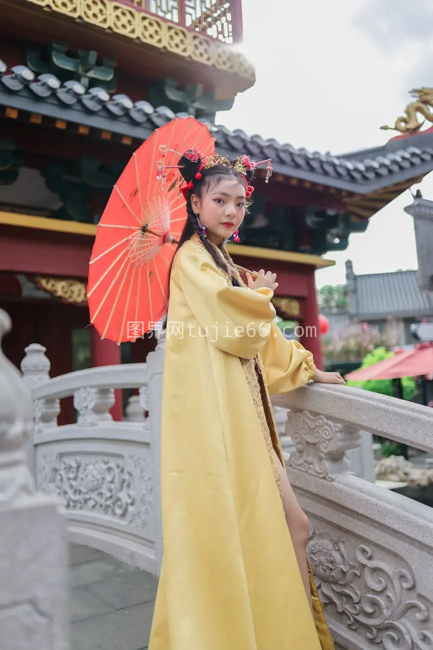
[[[288,341],[275,322],[271,324],[271,335],[260,354],[271,395],[299,388],[315,375],[311,352],[297,341]]]

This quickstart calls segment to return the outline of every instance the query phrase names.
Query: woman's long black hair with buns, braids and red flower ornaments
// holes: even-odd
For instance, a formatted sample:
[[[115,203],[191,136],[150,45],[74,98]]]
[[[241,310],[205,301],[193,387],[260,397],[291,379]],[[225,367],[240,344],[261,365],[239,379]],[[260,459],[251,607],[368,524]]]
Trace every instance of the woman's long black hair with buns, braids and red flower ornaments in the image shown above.
[[[184,229],[182,230],[182,234],[180,235],[177,248],[175,250],[175,255],[185,242],[191,239],[193,235],[197,234],[199,235],[204,248],[216,263],[217,268],[219,268],[225,274],[229,275],[230,281],[234,287],[240,287],[240,283],[232,271],[232,266],[230,265],[230,256],[229,253],[227,253],[224,245],[225,242],[222,242],[220,246],[217,247],[215,244],[212,244],[212,242],[206,237],[205,233],[201,231],[197,215],[194,214],[192,209],[191,197],[193,194],[195,194],[199,198],[202,198],[205,191],[209,191],[211,188],[216,187],[219,185],[219,183],[229,178],[239,181],[239,183],[245,184],[245,176],[240,174],[240,172],[236,172],[234,168],[222,164],[216,164],[209,169],[201,169],[201,159],[198,159],[196,162],[192,162],[185,156],[182,156],[178,164],[180,166],[180,174],[182,174],[182,177],[186,183],[190,185],[190,187],[188,187],[188,193],[186,194],[187,218]],[[248,171],[246,176],[247,185],[249,185],[252,176],[253,172]],[[173,259],[171,260],[169,268],[166,295],[164,296],[164,307],[162,309],[162,317],[164,317],[164,328],[167,324],[167,311],[170,297],[170,276],[175,255],[173,255]]]

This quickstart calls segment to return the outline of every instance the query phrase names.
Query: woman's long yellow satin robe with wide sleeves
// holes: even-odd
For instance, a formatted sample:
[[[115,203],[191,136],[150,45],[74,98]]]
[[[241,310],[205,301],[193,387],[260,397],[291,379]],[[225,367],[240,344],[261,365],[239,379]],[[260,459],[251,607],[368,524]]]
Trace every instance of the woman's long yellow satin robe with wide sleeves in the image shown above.
[[[259,355],[270,393],[314,372],[310,352],[273,323],[272,297],[232,287],[195,237],[175,257],[162,400],[164,556],[149,650],[334,648],[311,574],[315,620],[310,614],[241,363]]]

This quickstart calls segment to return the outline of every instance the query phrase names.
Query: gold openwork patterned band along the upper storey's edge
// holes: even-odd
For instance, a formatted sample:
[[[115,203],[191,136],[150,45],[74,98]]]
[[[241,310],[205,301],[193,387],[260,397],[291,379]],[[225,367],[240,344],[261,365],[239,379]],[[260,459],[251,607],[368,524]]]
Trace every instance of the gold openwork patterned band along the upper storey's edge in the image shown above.
[[[132,6],[110,0],[27,0],[32,5],[82,19],[86,23],[113,31],[127,38],[138,39],[153,47],[167,49],[182,57],[188,57],[206,66],[231,72],[245,79],[255,79],[254,66],[240,52],[229,45],[212,42],[197,32],[188,31],[177,23],[161,20],[156,14],[137,11]]]

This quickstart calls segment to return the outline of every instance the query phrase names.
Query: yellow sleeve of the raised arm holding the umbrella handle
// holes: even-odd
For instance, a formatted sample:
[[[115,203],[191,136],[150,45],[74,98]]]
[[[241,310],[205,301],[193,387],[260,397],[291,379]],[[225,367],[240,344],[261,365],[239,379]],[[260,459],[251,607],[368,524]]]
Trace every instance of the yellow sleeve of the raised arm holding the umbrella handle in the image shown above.
[[[266,344],[275,318],[273,291],[232,287],[199,246],[182,251],[175,270],[202,335],[223,352],[253,359]]]

